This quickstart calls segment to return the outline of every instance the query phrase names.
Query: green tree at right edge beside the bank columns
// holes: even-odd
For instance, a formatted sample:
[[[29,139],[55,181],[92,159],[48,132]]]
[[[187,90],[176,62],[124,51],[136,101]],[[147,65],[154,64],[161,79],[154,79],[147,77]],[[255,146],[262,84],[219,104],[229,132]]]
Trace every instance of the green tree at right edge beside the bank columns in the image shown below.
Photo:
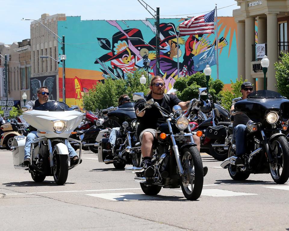
[[[281,62],[274,63],[278,92],[289,98],[289,54],[281,53]]]

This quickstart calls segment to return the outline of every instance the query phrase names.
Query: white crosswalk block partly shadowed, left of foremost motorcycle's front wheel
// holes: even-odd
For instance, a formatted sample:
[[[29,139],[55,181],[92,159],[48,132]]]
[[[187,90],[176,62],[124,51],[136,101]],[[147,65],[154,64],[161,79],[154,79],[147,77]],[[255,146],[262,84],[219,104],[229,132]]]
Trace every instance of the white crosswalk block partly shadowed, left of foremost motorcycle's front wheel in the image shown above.
[[[147,196],[143,194],[135,193],[95,193],[95,194],[85,194],[88,196],[95,196],[111,201],[135,201],[135,200],[152,200],[158,199],[154,196]]]

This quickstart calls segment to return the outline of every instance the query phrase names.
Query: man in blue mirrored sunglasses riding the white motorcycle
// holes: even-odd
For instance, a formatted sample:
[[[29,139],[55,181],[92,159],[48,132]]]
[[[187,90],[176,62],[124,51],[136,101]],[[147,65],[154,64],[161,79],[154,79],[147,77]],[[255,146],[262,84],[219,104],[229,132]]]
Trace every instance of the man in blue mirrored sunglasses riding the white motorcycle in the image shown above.
[[[46,103],[49,100],[49,91],[46,86],[43,86],[37,90],[37,100],[30,100],[25,106],[30,107],[31,110],[33,110],[34,107],[39,107],[41,104]],[[37,131],[35,128],[30,126],[30,133],[26,137],[25,141],[25,147],[24,147],[24,165],[28,166],[30,163],[30,145],[33,140],[36,140],[38,138]],[[67,142],[68,152],[71,159],[71,165],[78,162],[78,156],[73,149],[73,147],[70,145],[69,142]]]

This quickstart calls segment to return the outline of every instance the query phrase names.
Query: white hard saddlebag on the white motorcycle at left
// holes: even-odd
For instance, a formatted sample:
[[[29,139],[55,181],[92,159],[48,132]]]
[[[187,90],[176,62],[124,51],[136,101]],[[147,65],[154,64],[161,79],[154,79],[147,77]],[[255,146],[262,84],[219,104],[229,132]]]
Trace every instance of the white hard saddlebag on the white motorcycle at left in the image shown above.
[[[27,168],[26,166],[22,165],[24,162],[24,146],[25,146],[26,137],[15,136],[13,143],[12,143],[12,156],[13,156],[13,165],[16,169],[23,169],[23,167]]]

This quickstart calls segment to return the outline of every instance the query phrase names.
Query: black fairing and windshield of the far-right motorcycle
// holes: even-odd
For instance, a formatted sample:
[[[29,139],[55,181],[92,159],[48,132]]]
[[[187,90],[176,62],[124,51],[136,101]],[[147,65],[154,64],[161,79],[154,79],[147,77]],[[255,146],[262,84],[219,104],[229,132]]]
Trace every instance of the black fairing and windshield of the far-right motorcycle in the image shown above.
[[[235,110],[243,112],[249,119],[257,123],[266,121],[266,114],[269,111],[276,111],[281,121],[287,121],[289,119],[289,100],[275,91],[255,91],[250,93],[247,99],[235,103]]]

